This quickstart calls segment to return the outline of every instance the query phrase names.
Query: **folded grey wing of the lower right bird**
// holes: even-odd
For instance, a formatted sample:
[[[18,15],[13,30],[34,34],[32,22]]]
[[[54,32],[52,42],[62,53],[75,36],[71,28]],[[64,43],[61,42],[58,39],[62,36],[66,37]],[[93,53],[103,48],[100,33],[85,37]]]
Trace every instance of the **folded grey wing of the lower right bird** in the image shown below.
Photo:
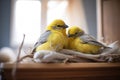
[[[98,42],[94,37],[90,36],[89,34],[84,34],[84,35],[80,36],[80,39],[83,41],[83,43],[88,43],[88,44],[105,47],[105,45]]]

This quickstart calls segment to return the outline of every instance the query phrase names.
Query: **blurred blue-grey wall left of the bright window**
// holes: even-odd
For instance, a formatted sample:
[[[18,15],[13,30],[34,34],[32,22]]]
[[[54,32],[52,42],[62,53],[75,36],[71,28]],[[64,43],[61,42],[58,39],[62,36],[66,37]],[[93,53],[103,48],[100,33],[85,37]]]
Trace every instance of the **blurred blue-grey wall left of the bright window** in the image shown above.
[[[10,0],[0,0],[0,48],[9,46]]]

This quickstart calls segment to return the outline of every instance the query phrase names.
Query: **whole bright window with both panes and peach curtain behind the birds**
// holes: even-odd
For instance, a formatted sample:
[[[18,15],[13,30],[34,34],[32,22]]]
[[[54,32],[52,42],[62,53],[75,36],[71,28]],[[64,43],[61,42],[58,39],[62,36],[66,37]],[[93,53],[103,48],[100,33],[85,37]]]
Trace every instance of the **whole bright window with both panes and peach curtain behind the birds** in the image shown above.
[[[83,24],[85,28],[84,12],[79,1],[12,0],[11,46],[19,46],[23,34],[26,35],[24,45],[33,46],[54,19],[63,19],[69,26]]]

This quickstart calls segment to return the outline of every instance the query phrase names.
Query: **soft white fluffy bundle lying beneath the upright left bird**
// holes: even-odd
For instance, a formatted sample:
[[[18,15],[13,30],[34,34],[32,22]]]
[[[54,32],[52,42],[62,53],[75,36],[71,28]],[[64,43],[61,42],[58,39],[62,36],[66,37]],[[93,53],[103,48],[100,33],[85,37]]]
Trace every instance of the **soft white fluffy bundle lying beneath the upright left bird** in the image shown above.
[[[35,62],[61,62],[60,60],[65,60],[67,58],[73,58],[70,55],[61,54],[55,51],[41,50],[34,54]]]

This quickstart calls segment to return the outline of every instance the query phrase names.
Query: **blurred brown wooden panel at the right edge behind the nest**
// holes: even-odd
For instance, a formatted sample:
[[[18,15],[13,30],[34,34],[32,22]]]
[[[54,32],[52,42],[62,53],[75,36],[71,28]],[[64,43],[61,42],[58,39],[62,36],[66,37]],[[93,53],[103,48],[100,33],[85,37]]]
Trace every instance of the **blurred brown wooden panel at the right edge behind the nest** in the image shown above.
[[[120,44],[120,0],[102,0],[103,37],[108,44]]]

